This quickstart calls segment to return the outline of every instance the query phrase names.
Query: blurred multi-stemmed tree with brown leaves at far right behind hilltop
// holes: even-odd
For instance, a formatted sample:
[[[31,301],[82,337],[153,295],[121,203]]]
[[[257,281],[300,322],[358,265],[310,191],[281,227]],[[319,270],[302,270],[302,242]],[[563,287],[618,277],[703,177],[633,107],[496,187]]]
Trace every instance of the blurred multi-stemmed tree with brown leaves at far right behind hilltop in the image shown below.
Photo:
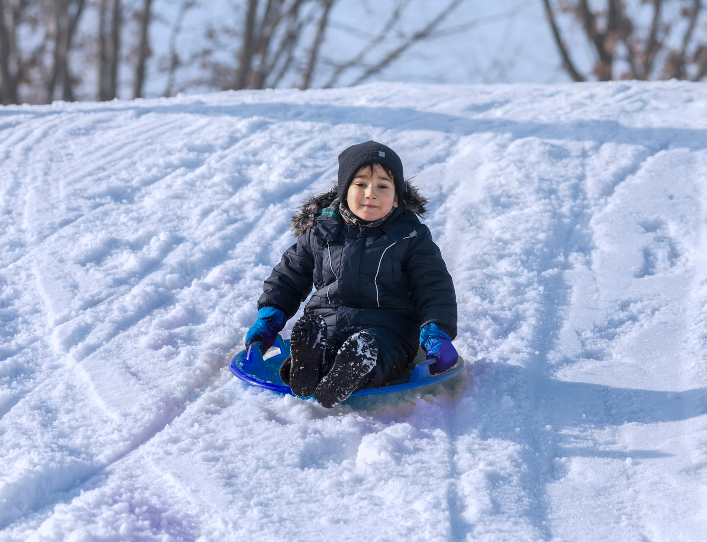
[[[699,81],[707,73],[707,36],[700,35],[701,0],[542,0],[562,59],[573,81],[619,78],[677,78]],[[648,13],[646,13],[648,11]],[[590,73],[583,73],[563,26],[579,26],[593,52]]]

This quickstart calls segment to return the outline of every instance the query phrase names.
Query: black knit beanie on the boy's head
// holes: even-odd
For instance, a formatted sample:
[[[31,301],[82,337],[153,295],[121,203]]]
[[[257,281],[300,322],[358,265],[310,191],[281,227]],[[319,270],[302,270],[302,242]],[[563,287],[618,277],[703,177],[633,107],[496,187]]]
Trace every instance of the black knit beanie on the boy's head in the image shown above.
[[[385,165],[393,172],[395,182],[395,194],[399,203],[402,203],[402,196],[405,194],[405,180],[402,176],[402,161],[392,148],[366,141],[357,143],[344,149],[339,155],[339,186],[337,196],[340,201],[346,201],[346,193],[349,192],[349,184],[354,180],[356,172],[364,165],[380,164]]]

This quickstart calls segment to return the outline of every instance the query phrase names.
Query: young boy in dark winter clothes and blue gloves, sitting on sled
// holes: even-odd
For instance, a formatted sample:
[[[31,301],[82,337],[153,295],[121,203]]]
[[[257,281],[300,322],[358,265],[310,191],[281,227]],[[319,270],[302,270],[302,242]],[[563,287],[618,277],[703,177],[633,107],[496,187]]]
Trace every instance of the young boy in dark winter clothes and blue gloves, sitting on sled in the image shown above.
[[[264,283],[245,346],[270,348],[314,285],[292,329],[280,376],[327,408],[401,375],[419,345],[432,374],[457,363],[452,277],[418,216],[428,200],[403,177],[398,155],[368,141],[339,155],[339,182],[293,216],[297,242]]]

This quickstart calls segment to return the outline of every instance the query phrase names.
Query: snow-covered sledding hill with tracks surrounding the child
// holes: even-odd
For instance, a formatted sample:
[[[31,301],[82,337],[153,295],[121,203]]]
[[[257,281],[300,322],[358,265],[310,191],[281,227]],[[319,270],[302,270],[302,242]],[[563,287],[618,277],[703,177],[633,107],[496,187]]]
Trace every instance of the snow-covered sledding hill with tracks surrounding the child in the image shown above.
[[[468,366],[329,411],[228,360],[367,139]],[[2,107],[0,181],[0,540],[704,540],[705,84]]]

